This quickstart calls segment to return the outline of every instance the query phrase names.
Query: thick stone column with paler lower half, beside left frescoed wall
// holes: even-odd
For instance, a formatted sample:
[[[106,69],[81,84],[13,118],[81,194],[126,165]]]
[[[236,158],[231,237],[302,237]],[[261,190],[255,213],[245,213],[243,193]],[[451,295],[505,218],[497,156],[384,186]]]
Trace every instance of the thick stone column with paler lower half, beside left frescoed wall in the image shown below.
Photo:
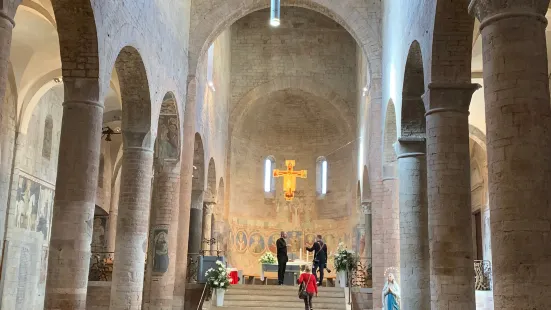
[[[65,79],[44,309],[86,309],[103,105],[97,80]]]

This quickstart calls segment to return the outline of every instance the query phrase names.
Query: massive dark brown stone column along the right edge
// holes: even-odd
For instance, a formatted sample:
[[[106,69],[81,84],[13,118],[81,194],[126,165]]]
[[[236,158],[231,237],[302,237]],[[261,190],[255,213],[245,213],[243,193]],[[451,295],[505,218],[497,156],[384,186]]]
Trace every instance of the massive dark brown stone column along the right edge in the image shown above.
[[[496,309],[551,309],[549,0],[471,1],[484,52]]]

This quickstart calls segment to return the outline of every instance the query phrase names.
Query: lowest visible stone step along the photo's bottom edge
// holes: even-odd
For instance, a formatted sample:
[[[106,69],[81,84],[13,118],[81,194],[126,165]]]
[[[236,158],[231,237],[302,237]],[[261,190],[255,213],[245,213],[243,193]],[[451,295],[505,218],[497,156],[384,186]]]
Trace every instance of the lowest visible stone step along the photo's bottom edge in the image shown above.
[[[268,302],[264,304],[259,301],[231,301],[231,300],[224,300],[224,307],[214,307],[214,309],[227,309],[227,308],[235,308],[235,309],[247,309],[247,310],[256,310],[256,309],[304,309],[304,301],[298,299],[298,297],[295,297],[296,300],[286,300],[286,299],[280,299],[275,302]],[[346,310],[346,302],[343,299],[341,303],[335,304],[335,303],[322,303],[317,302],[318,300],[314,297],[312,299],[312,307],[314,309],[330,309],[330,310]]]

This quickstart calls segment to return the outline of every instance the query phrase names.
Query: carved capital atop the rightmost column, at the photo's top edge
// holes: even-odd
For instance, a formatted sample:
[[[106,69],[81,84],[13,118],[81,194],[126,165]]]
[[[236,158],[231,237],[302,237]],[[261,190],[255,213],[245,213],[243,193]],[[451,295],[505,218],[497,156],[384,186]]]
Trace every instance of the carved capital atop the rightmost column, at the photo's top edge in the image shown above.
[[[549,0],[471,0],[469,13],[480,20],[480,29],[492,22],[524,16],[547,24]]]

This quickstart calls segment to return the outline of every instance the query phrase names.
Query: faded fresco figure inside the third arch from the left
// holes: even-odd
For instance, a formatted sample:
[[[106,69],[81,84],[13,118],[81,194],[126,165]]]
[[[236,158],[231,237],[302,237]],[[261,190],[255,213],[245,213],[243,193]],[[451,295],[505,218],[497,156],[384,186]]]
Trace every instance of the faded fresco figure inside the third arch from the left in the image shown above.
[[[156,144],[157,156],[160,159],[178,159],[180,140],[178,117],[176,115],[159,116],[159,133]]]

